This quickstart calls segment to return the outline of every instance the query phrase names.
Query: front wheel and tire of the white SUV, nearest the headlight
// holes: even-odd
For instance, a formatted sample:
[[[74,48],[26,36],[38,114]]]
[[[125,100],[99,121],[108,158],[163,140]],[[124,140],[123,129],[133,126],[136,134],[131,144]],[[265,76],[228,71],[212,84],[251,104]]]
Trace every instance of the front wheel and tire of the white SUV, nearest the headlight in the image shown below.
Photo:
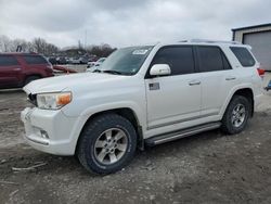
[[[103,114],[83,128],[77,156],[87,170],[111,174],[124,168],[136,149],[137,133],[132,124],[117,114]]]

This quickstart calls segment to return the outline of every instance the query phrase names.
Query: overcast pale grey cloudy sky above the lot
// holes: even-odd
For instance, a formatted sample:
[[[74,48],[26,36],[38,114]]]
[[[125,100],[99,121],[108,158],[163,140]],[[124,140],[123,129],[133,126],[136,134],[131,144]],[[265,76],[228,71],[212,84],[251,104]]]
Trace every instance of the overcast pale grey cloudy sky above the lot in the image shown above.
[[[270,8],[271,0],[0,0],[0,35],[61,48],[231,40],[232,28],[271,23]]]

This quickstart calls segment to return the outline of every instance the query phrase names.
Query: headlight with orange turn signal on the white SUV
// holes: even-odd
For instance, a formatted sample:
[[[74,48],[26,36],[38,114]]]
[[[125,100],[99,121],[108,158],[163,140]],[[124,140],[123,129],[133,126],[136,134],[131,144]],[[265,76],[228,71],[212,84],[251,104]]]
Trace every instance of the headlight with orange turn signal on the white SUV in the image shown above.
[[[44,110],[59,110],[70,103],[72,92],[55,92],[37,94],[38,107]]]

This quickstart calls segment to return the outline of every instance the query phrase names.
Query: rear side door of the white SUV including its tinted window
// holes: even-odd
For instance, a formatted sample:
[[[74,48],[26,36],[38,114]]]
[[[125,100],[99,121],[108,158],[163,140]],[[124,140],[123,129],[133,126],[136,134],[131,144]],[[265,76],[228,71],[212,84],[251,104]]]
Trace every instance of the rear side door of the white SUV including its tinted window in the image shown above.
[[[202,117],[218,115],[236,76],[223,51],[216,46],[197,46],[198,69],[202,75]]]

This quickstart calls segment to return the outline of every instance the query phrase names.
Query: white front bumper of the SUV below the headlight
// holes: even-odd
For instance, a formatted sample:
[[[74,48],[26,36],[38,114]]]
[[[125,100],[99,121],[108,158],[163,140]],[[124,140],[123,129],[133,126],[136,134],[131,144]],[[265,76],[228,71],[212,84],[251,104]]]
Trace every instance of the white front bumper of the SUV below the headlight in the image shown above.
[[[25,126],[24,138],[34,149],[55,155],[74,155],[76,118],[65,116],[62,111],[26,107],[21,119]]]

